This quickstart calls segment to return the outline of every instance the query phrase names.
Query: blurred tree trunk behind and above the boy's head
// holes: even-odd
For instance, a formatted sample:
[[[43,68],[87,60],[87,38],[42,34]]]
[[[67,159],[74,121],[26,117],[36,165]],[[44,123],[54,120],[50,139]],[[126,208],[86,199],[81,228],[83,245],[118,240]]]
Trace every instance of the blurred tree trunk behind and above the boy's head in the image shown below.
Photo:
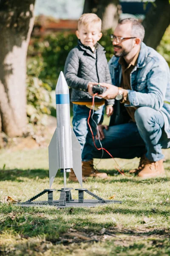
[[[85,0],[83,13],[95,13],[102,20],[102,30],[115,29],[121,6],[119,0]]]

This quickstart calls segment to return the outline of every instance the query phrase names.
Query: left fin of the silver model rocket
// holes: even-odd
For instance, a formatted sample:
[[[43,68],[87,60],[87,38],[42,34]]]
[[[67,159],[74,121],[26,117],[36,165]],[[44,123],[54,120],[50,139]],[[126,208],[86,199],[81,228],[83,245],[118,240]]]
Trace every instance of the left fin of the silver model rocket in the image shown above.
[[[53,184],[54,178],[59,169],[58,166],[58,152],[57,152],[57,128],[54,131],[51,142],[48,146],[48,160],[49,160],[49,177],[50,177],[50,189]]]

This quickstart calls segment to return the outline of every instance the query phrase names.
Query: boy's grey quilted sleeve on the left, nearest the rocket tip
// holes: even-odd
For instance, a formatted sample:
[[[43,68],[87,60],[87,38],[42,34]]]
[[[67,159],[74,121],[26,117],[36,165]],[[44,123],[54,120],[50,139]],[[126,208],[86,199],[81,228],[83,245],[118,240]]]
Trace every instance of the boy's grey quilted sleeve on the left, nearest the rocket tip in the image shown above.
[[[78,77],[79,56],[77,49],[72,49],[65,61],[64,76],[69,87],[87,92],[88,80]]]

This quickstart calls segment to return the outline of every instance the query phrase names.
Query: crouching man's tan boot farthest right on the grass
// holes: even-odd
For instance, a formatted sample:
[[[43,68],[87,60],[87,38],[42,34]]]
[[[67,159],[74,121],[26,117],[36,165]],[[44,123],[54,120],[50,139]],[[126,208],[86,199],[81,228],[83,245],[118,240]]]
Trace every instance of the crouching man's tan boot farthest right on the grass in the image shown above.
[[[138,177],[152,178],[161,175],[164,175],[163,159],[156,162],[151,162],[146,158],[144,168],[139,172]]]

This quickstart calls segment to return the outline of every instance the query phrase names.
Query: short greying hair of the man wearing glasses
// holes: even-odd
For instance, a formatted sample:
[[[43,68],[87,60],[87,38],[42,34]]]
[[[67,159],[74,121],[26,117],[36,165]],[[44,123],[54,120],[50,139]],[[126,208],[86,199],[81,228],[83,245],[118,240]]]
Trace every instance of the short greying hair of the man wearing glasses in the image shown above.
[[[131,23],[132,24],[132,35],[133,37],[140,38],[141,41],[144,39],[144,26],[140,23],[139,20],[135,18],[126,18],[123,20],[119,20],[118,24],[125,24]]]

